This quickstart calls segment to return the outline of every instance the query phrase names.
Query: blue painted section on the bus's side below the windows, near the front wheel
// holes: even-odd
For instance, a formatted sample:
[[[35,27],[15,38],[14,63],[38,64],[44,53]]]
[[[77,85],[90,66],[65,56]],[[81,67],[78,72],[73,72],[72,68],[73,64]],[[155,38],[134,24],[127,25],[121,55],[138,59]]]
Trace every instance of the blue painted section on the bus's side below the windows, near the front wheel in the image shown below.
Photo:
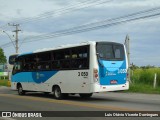
[[[58,71],[20,72],[12,75],[12,82],[44,83]]]

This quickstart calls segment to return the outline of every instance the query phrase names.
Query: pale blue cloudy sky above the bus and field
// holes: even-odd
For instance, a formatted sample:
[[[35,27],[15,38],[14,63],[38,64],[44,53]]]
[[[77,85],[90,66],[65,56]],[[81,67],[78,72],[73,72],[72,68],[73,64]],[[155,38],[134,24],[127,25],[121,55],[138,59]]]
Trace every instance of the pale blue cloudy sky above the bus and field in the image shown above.
[[[50,39],[32,42],[27,39],[160,7],[160,0],[0,0],[0,3],[0,46],[11,42],[10,38],[15,40],[12,32],[15,27],[8,23],[20,25],[19,53],[84,41],[124,43],[129,35],[131,63],[160,67],[160,16]],[[12,44],[2,48],[7,57],[15,53]]]

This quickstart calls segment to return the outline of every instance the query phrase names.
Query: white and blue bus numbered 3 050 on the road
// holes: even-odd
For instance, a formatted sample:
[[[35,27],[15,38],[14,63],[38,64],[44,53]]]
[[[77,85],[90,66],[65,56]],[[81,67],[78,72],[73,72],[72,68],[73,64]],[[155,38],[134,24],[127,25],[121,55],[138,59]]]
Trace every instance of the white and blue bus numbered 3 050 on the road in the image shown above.
[[[87,98],[129,89],[126,48],[120,43],[89,41],[15,57],[14,62],[9,60],[14,63],[11,88],[19,95],[38,91],[52,93],[56,99],[69,94]]]

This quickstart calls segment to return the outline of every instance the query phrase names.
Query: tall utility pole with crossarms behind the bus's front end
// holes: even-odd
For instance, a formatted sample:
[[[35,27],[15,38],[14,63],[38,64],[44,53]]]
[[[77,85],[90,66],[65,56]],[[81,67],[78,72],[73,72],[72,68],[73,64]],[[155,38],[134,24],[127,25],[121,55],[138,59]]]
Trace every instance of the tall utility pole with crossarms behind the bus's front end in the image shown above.
[[[15,38],[15,47],[16,47],[16,53],[18,53],[19,47],[18,47],[18,32],[21,31],[18,29],[19,24],[10,24],[8,23],[9,26],[15,26],[16,30],[14,30],[13,32],[16,33],[16,38]]]

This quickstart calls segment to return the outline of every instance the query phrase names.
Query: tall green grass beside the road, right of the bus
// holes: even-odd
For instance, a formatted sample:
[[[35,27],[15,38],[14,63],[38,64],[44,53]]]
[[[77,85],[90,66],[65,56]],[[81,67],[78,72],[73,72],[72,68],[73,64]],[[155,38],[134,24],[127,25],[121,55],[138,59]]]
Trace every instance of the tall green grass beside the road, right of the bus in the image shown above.
[[[157,84],[156,88],[153,88],[155,73],[157,73]],[[132,70],[131,81],[129,92],[160,94],[160,68]]]

